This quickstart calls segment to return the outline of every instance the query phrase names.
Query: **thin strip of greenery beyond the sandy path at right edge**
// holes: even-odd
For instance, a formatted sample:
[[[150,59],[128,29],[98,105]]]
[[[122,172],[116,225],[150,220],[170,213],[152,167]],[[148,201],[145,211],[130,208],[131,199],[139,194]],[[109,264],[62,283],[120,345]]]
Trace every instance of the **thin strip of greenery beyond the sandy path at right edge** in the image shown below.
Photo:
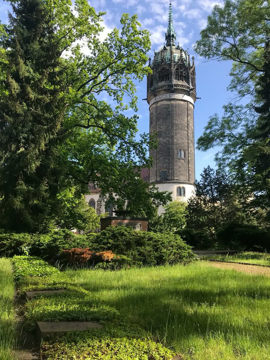
[[[207,256],[206,260],[244,262],[248,264],[269,265],[270,254],[263,252],[246,251],[234,255],[213,255]]]

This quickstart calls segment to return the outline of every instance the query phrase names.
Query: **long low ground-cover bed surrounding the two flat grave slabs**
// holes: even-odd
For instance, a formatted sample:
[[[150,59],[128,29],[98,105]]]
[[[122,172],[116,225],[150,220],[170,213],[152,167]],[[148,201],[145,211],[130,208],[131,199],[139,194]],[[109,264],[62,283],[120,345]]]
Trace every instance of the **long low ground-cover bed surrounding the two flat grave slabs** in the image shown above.
[[[12,261],[16,269],[22,270],[19,276],[15,274],[21,294],[29,290],[51,289],[54,285],[61,288],[63,284],[67,289],[58,294],[37,296],[25,304],[28,330],[33,329],[35,321],[95,320],[104,325],[101,329],[69,332],[43,341],[41,360],[172,360],[174,357],[174,352],[154,342],[149,332],[126,321],[115,307],[82,288],[79,279],[71,279],[55,268],[49,271],[53,266],[30,256],[15,256]],[[38,264],[35,273],[31,261]],[[21,267],[21,264],[25,266]]]

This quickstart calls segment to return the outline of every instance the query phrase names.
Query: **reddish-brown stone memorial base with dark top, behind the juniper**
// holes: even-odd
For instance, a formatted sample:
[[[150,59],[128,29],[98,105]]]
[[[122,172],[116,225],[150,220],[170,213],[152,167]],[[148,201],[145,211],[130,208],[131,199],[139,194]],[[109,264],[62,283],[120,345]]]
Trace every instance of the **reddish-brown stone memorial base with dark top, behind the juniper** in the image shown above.
[[[134,230],[147,231],[147,217],[103,217],[100,219],[100,231],[108,226],[131,226]]]

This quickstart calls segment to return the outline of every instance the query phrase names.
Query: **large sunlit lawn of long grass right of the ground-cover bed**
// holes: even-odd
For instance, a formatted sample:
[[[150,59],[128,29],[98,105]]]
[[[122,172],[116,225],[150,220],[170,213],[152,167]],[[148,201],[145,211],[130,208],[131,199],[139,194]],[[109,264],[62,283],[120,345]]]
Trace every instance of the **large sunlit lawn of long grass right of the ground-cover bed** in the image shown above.
[[[199,262],[66,271],[185,360],[269,360],[270,278]]]

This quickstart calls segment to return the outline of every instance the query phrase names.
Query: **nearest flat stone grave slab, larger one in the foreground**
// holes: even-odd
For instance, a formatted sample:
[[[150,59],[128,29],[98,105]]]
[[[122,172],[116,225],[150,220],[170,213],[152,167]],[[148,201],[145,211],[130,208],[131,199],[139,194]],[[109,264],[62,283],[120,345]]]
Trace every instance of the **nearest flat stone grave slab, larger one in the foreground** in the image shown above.
[[[89,329],[100,329],[103,325],[93,321],[37,321],[37,340],[46,339],[50,335],[63,334],[68,331],[86,331]]]

